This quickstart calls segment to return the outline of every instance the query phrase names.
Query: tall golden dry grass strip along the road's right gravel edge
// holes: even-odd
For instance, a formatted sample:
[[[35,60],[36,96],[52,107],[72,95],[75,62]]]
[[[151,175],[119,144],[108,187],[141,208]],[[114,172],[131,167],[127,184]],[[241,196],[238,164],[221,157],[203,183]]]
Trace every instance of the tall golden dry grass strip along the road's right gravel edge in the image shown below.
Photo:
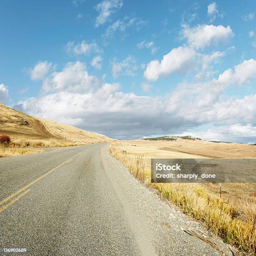
[[[256,200],[233,204],[210,194],[200,184],[151,183],[151,171],[145,169],[143,156],[137,156],[137,160],[134,160],[113,146],[110,147],[110,153],[141,182],[157,189],[164,198],[179,206],[184,213],[200,220],[226,243],[241,251],[255,253],[256,230],[253,232],[253,221],[256,218]]]

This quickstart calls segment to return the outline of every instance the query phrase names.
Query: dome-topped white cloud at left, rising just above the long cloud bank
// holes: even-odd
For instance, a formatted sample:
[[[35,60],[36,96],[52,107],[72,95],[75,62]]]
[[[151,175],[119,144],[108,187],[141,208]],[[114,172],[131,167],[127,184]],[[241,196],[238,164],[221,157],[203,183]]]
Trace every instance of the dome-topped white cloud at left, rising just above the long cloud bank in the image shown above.
[[[43,81],[43,90],[68,91],[85,93],[96,90],[101,82],[97,77],[90,76],[84,63],[69,62],[61,72],[53,72]]]

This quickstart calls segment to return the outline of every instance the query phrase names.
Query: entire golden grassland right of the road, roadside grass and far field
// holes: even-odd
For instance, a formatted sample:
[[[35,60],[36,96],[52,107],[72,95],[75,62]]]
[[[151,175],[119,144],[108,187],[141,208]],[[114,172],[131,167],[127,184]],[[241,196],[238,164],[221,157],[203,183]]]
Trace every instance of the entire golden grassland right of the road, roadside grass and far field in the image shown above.
[[[172,150],[161,149],[166,147]],[[220,184],[152,184],[150,181],[151,158],[207,158],[212,155],[253,158],[256,157],[253,146],[178,138],[175,142],[118,141],[112,144],[110,152],[130,169],[134,177],[157,189],[164,198],[204,223],[226,243],[251,255],[255,253],[256,230],[253,232],[253,223],[256,218],[256,184],[222,184],[220,198]]]

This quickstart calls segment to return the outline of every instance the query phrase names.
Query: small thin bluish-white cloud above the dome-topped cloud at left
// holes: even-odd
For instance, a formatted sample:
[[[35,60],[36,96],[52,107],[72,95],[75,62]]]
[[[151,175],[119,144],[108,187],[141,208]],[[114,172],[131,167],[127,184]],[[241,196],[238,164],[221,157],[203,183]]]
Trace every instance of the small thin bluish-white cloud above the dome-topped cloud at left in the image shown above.
[[[75,55],[89,55],[91,52],[100,53],[101,49],[97,45],[97,43],[93,42],[87,44],[86,41],[82,41],[81,43],[74,44],[74,41],[69,41],[65,46],[67,53],[75,54]]]

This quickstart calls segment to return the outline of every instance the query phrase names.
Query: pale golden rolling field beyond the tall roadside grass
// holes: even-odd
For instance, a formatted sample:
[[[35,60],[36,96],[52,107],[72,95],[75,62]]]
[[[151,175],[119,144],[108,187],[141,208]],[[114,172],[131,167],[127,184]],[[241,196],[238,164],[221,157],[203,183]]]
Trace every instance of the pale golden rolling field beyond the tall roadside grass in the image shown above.
[[[192,141],[177,138],[177,141],[115,141],[113,146],[129,157],[135,159],[143,155],[146,169],[151,168],[151,158],[256,158],[256,146],[237,143],[213,143],[209,141]],[[207,191],[218,195],[219,184],[203,184]],[[222,198],[230,202],[256,198],[256,184],[222,184]]]

